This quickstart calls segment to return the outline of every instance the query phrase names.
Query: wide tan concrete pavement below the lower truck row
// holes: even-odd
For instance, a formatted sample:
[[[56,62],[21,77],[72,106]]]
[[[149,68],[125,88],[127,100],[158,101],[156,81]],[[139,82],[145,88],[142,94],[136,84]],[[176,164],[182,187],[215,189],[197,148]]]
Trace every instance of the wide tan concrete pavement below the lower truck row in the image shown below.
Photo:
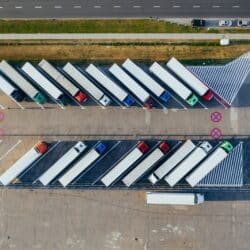
[[[11,189],[0,200],[1,249],[249,249],[248,201],[149,206],[144,192]]]

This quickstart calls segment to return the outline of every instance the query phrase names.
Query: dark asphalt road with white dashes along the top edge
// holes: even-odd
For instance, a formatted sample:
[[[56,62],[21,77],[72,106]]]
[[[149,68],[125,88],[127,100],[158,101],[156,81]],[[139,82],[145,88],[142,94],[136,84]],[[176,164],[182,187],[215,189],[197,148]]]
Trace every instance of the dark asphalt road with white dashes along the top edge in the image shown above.
[[[248,0],[1,0],[0,18],[250,17]]]

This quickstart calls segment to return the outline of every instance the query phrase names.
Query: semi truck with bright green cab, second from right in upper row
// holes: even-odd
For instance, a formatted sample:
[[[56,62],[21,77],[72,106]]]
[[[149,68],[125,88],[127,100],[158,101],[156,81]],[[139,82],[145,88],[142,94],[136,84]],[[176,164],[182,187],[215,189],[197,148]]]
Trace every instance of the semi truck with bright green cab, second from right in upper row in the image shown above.
[[[194,106],[198,102],[198,97],[159,63],[154,62],[149,70],[190,106]]]

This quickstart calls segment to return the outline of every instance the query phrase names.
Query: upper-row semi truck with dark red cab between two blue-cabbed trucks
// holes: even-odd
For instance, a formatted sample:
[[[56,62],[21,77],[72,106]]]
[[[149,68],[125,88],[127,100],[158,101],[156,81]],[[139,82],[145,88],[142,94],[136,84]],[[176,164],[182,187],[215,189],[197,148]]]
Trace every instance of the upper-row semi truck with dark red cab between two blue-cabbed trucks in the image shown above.
[[[153,108],[154,101],[150,94],[132,77],[130,77],[120,66],[114,63],[109,68],[109,72],[115,76],[125,87],[127,87],[144,104],[146,108]]]

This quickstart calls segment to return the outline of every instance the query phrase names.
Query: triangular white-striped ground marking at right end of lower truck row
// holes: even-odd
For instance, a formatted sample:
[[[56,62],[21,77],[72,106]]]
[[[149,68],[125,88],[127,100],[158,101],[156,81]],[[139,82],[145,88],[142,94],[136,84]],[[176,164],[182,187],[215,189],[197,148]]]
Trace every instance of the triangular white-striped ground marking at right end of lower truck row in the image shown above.
[[[240,142],[233,151],[197,186],[242,186],[243,185],[243,142]]]

